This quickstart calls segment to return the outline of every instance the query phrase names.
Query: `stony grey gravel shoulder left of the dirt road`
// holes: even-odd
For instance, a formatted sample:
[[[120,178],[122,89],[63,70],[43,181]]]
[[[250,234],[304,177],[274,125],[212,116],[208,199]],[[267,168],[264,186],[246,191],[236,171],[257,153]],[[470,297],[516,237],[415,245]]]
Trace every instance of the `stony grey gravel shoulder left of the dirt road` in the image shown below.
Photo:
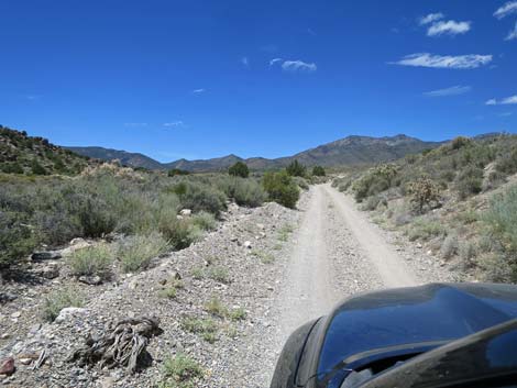
[[[226,220],[202,241],[157,258],[150,270],[105,285],[85,285],[67,276],[61,258],[34,263],[31,276],[25,274],[22,281],[4,279],[0,359],[12,357],[16,370],[0,375],[1,383],[8,387],[153,387],[161,379],[162,362],[183,353],[202,366],[205,376],[198,387],[258,386],[249,380],[253,374],[243,366],[261,368],[262,347],[254,342],[271,325],[268,301],[277,291],[282,270],[277,263],[288,251],[288,231],[299,215],[276,203],[258,209],[231,206]],[[183,287],[169,298],[164,293],[174,278],[180,278]],[[72,286],[87,304],[62,312],[53,323],[44,322],[44,296]],[[230,313],[217,317],[215,308],[207,307],[213,300]],[[232,311],[239,317],[230,317]],[[162,333],[147,346],[153,358],[150,367],[130,375],[122,368],[79,367],[66,361],[88,335],[136,317],[160,319]],[[209,337],[186,330],[188,319],[210,321]],[[45,362],[34,368],[42,353]]]

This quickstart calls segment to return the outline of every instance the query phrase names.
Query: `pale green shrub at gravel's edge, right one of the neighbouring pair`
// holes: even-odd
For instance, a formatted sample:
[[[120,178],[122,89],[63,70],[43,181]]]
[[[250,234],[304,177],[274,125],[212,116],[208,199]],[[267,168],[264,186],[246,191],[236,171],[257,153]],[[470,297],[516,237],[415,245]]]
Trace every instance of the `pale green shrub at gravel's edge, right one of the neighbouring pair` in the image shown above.
[[[168,247],[160,233],[132,235],[118,243],[117,258],[124,273],[134,273],[148,268],[151,260],[166,253]]]

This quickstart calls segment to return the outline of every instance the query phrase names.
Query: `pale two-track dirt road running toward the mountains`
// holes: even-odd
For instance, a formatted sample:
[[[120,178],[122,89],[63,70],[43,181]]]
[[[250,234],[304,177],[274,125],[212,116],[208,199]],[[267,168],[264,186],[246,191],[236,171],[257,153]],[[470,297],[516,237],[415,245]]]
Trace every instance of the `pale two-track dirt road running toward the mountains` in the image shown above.
[[[330,185],[309,196],[278,299],[280,343],[348,296],[419,282],[350,198]]]

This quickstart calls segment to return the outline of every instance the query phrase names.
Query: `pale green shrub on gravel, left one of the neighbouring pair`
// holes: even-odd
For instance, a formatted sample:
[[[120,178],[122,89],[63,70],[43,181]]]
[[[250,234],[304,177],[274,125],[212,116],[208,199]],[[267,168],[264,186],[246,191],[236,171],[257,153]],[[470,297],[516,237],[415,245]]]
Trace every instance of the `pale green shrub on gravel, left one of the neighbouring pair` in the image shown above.
[[[109,278],[110,267],[113,263],[113,247],[107,243],[98,243],[91,246],[73,251],[67,263],[75,276],[100,276]]]

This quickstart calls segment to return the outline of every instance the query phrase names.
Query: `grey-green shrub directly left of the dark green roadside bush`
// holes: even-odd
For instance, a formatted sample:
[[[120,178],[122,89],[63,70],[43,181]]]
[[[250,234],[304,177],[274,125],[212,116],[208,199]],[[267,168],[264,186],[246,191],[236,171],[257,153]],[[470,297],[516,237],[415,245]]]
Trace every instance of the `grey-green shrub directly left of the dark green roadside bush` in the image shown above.
[[[239,206],[260,207],[267,197],[262,186],[254,179],[228,177],[219,180],[219,187]]]

